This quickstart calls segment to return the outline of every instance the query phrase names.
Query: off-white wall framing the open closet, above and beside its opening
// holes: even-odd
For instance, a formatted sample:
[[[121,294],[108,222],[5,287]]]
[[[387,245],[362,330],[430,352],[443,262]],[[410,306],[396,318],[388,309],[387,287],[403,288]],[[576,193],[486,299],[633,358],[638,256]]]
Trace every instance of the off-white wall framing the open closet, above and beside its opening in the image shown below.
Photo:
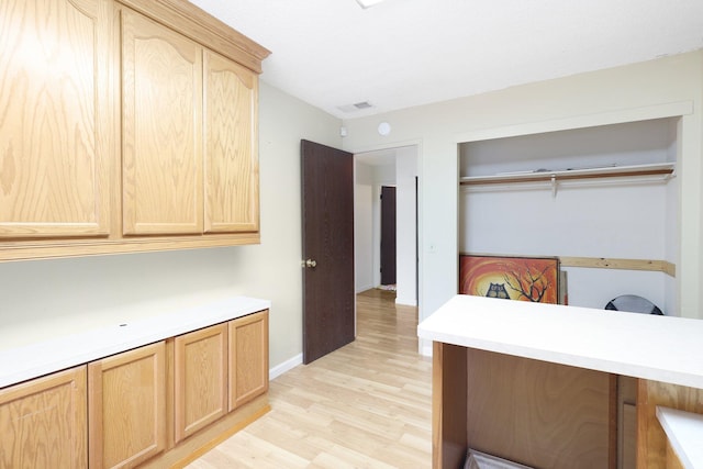
[[[681,315],[703,317],[702,70],[699,51],[345,121],[344,148],[353,153],[421,145],[420,319],[456,292],[458,143],[677,114],[685,114],[678,158],[679,304]],[[382,121],[392,126],[388,136],[377,132]]]

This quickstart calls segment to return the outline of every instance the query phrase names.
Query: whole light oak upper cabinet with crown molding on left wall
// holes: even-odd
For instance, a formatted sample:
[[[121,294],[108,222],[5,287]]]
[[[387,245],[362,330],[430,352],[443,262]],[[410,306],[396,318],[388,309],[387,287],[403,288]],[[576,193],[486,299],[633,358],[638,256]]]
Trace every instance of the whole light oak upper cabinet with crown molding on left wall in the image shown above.
[[[187,0],[0,18],[0,260],[259,242],[268,51]]]

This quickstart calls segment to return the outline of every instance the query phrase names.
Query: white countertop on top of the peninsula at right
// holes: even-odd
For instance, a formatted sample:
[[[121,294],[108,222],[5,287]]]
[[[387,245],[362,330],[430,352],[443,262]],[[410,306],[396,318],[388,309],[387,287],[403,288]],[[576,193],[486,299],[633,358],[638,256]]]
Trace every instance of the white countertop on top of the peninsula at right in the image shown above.
[[[458,294],[421,338],[703,389],[703,321]]]

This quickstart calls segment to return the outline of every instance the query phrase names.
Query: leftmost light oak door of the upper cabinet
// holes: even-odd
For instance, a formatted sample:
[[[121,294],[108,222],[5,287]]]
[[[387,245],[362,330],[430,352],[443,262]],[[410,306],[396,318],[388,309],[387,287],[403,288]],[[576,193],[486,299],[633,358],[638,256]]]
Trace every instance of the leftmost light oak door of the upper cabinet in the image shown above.
[[[105,2],[0,2],[0,239],[109,232]]]

